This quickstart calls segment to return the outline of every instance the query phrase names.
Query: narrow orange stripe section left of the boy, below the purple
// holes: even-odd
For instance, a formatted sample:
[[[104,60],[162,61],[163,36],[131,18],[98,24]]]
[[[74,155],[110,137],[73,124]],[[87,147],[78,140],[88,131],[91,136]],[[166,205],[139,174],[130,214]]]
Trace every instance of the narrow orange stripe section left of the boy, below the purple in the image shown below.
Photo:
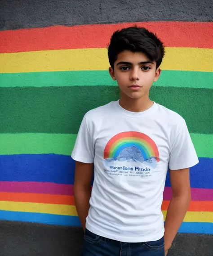
[[[37,194],[37,193],[1,192],[0,201],[39,202],[39,203],[49,203],[49,204],[75,205],[73,196]]]

